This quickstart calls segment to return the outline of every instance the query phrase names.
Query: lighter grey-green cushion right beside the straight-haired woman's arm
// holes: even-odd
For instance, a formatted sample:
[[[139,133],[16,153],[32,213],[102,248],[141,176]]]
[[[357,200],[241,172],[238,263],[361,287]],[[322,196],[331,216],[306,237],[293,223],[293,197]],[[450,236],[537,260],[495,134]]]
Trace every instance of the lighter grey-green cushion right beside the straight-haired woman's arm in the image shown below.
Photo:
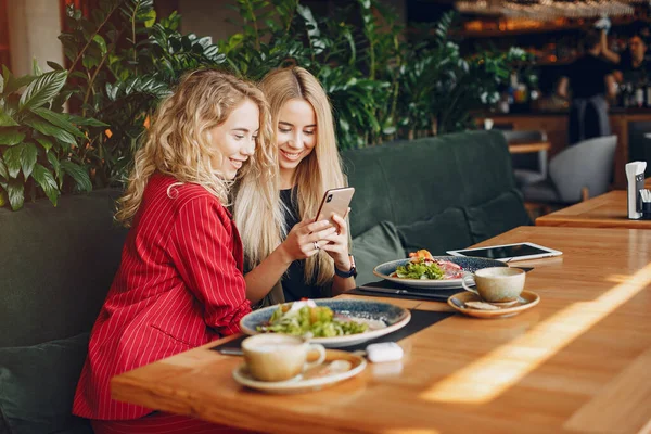
[[[373,268],[380,264],[405,257],[400,234],[390,221],[382,221],[361,235],[353,239],[353,255],[357,267],[358,285],[380,280]]]

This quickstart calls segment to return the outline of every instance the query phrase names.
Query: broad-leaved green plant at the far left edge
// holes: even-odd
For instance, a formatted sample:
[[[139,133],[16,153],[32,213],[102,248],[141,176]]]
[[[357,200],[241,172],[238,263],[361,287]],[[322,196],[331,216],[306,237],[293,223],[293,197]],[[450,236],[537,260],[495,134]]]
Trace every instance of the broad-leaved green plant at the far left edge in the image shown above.
[[[66,190],[91,190],[77,150],[88,143],[80,125],[101,125],[61,112],[55,103],[66,72],[16,78],[3,66],[0,81],[0,206],[23,207],[46,195],[56,205]]]

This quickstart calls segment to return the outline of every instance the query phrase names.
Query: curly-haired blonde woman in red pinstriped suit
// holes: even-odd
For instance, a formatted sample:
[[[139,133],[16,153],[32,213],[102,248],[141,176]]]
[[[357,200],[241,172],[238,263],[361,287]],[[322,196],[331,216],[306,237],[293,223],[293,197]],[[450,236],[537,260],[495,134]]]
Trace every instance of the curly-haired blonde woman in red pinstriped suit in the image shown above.
[[[95,433],[237,431],[114,400],[110,381],[239,331],[251,306],[225,205],[237,177],[273,184],[270,131],[261,92],[217,71],[190,73],[161,104],[119,201],[116,219],[131,229],[73,406]]]

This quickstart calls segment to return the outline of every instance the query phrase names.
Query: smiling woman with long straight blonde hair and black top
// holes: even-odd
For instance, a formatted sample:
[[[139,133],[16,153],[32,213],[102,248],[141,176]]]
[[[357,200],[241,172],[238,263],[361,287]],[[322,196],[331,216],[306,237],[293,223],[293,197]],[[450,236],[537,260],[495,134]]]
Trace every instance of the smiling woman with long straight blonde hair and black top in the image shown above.
[[[330,102],[319,81],[301,67],[269,73],[260,88],[269,101],[278,146],[276,194],[283,221],[264,228],[257,205],[247,200],[255,186],[238,189],[233,216],[251,270],[245,276],[246,296],[266,306],[341,294],[355,288],[348,225],[337,215],[336,227],[314,221],[324,192],[346,183]],[[266,233],[269,230],[275,232]]]

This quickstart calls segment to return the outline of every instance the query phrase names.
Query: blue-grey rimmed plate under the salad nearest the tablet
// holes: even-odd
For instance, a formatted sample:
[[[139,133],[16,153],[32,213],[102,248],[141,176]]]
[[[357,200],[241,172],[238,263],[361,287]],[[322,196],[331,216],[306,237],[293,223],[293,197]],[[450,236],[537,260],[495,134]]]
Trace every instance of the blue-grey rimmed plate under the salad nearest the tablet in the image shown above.
[[[464,257],[464,256],[434,256],[434,259],[449,260],[461,267],[463,271],[475,272],[482,268],[488,267],[508,267],[505,263],[496,259]],[[452,288],[461,288],[461,279],[405,279],[394,278],[390,275],[398,268],[398,266],[409,263],[409,258],[396,259],[379,265],[373,269],[373,275],[379,278],[390,280],[392,282],[411,288],[429,289],[429,290],[449,290]]]

